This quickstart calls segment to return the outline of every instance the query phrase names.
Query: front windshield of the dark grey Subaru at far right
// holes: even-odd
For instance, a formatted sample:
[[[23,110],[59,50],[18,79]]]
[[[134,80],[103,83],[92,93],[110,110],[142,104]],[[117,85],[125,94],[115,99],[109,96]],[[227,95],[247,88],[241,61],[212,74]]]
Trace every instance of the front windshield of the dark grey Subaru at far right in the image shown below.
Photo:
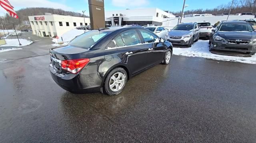
[[[239,32],[252,32],[253,28],[250,24],[245,23],[245,24],[241,24],[241,23],[229,23],[229,24],[222,24],[220,25],[220,29],[219,31],[239,31]]]

